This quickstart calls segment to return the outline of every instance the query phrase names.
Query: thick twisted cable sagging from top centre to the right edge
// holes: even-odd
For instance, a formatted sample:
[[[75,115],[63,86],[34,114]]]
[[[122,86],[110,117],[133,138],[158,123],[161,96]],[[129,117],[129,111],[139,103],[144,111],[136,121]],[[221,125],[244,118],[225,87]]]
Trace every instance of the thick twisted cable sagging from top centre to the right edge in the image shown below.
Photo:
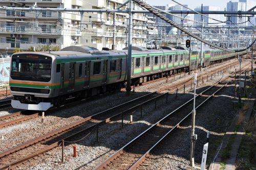
[[[187,35],[191,36],[191,37],[194,37],[196,38],[197,40],[205,43],[205,44],[208,44],[210,46],[213,46],[219,50],[223,50],[223,51],[227,51],[227,52],[242,52],[242,51],[245,51],[247,50],[255,41],[256,39],[254,40],[254,42],[247,48],[243,49],[243,50],[237,50],[237,51],[232,51],[232,50],[227,50],[227,48],[223,48],[223,47],[219,47],[215,44],[212,44],[211,42],[209,41],[206,41],[204,40],[202,37],[199,37],[193,33],[190,33],[187,29],[181,27],[180,25],[178,25],[176,22],[170,20],[169,18],[167,18],[166,16],[164,16],[163,14],[161,14],[159,11],[156,11],[152,6],[144,3],[143,1],[140,1],[140,0],[133,0],[136,4],[138,4],[139,6],[142,6],[144,7],[145,9],[147,9],[148,11],[150,11],[151,13],[153,13],[154,15],[160,17],[161,19],[163,19],[164,21],[170,23],[170,25],[176,27],[177,29],[181,30],[182,32],[186,33]]]

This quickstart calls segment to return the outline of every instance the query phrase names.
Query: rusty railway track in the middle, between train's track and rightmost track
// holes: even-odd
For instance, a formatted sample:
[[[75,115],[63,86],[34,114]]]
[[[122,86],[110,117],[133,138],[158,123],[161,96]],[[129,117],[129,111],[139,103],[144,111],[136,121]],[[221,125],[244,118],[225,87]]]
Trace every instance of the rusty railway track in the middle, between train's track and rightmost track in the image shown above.
[[[170,87],[166,87],[165,90],[169,91],[169,89]],[[63,142],[63,140],[69,141],[72,140],[75,136],[79,136],[81,134],[84,136],[84,134],[90,134],[93,130],[98,131],[98,127],[100,125],[111,121],[115,117],[123,116],[124,113],[128,111],[131,112],[132,110],[137,109],[140,106],[142,107],[143,104],[151,102],[166,93],[157,94],[156,92],[152,92],[146,94],[140,98],[126,102],[125,104],[105,110],[87,118],[83,118],[78,122],[75,122],[74,124],[62,127],[55,131],[17,145],[16,147],[10,148],[0,153],[0,166],[2,167],[1,169],[15,167],[17,164],[33,158],[38,154],[47,152],[55,147],[58,147],[61,142]]]

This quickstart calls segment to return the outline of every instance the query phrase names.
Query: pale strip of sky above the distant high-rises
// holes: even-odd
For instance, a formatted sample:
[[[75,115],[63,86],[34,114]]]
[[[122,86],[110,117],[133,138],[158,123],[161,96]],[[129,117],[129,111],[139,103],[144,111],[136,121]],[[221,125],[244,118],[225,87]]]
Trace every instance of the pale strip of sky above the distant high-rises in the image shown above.
[[[184,4],[184,5],[188,5],[189,8],[195,9],[198,6],[201,6],[201,4],[203,4],[203,6],[215,6],[215,7],[220,7],[221,10],[224,10],[224,8],[227,7],[227,2],[229,2],[229,0],[176,0],[177,2]],[[238,2],[237,1],[232,1],[232,2]],[[165,6],[166,4],[175,4],[175,2],[173,2],[172,0],[160,0],[160,1],[156,1],[156,0],[147,0],[147,3],[149,5],[157,5],[157,6]],[[247,0],[247,10],[252,8],[253,6],[256,6],[256,0]]]

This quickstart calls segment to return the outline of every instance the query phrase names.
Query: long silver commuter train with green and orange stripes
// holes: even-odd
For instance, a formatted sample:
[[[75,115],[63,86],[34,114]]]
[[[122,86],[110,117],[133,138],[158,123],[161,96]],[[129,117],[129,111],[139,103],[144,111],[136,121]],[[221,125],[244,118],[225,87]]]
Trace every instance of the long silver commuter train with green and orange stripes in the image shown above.
[[[242,53],[241,53],[242,54]],[[203,51],[203,65],[236,56],[235,52]],[[11,56],[10,90],[13,108],[46,111],[72,96],[89,96],[121,88],[126,83],[127,48],[97,50],[68,46],[58,52],[20,52]],[[132,47],[131,83],[143,83],[200,66],[200,51],[148,50]]]

